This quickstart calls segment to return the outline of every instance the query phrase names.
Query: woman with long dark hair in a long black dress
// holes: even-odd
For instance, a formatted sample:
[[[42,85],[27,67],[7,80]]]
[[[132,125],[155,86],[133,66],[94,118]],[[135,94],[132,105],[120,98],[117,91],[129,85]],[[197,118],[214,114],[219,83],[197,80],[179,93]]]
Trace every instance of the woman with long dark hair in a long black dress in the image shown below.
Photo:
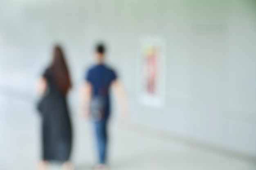
[[[49,161],[63,163],[64,170],[72,170],[69,162],[72,130],[66,96],[71,88],[69,71],[60,46],[54,48],[52,64],[37,84],[42,100],[38,110],[43,118],[43,154],[38,168],[45,170]]]

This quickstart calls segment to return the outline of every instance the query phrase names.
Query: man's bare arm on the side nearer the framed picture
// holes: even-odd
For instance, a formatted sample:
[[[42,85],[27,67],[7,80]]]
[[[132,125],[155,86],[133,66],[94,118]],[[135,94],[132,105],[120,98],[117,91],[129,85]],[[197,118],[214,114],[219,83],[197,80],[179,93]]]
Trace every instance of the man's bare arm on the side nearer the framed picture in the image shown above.
[[[112,91],[114,92],[114,95],[117,98],[117,102],[121,109],[121,113],[124,116],[128,116],[130,110],[129,110],[128,100],[127,100],[124,85],[121,83],[119,79],[115,79],[111,85],[112,85]]]

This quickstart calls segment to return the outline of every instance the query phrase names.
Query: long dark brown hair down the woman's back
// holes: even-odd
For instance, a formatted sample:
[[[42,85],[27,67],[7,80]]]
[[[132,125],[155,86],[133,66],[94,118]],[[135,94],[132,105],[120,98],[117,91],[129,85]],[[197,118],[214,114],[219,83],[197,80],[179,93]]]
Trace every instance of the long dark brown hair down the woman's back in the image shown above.
[[[66,95],[72,84],[63,51],[58,45],[54,47],[53,61],[50,69],[58,89],[63,95]]]

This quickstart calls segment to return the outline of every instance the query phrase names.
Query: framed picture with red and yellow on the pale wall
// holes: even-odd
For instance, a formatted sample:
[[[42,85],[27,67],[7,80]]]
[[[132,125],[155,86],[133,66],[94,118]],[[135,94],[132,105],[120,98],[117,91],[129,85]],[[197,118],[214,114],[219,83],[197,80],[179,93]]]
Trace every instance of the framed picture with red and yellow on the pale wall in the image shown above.
[[[137,57],[137,95],[140,104],[154,108],[164,106],[166,74],[166,48],[163,38],[141,38]]]

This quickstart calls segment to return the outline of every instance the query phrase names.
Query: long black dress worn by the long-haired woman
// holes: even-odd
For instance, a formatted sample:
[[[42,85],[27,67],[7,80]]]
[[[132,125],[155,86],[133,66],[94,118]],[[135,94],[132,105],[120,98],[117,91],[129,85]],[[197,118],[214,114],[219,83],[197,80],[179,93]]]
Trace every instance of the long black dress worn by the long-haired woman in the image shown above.
[[[66,96],[59,90],[50,69],[43,74],[47,90],[43,99],[43,160],[68,161],[72,144],[72,130]]]

